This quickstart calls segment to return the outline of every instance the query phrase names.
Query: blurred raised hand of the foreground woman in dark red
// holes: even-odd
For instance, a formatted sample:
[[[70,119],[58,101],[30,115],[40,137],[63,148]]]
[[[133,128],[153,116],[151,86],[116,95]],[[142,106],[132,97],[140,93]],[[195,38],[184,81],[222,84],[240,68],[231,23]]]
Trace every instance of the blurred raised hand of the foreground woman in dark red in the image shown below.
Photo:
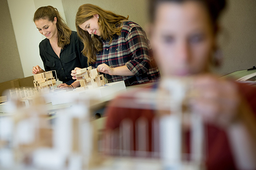
[[[193,113],[220,126],[234,122],[242,101],[234,82],[213,75],[202,75],[194,78],[193,86],[196,93],[189,100]]]

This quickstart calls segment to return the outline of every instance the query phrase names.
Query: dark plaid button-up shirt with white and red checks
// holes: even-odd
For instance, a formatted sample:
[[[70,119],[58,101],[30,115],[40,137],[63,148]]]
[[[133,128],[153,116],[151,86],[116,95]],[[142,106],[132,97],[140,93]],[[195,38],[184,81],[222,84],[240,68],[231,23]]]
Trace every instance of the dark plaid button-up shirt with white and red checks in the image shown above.
[[[108,82],[124,81],[126,86],[156,82],[160,72],[153,58],[149,40],[144,30],[132,21],[123,21],[121,35],[115,35],[112,42],[102,40],[103,50],[97,53],[92,67],[107,64],[109,67],[126,65],[134,76],[111,76],[105,74]]]

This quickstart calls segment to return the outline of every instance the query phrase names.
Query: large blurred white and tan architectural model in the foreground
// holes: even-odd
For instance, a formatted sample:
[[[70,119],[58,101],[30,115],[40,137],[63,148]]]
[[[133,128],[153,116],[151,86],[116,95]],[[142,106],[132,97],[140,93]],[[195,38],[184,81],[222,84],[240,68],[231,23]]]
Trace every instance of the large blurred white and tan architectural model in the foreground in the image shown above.
[[[134,122],[127,117],[108,132],[98,129],[99,122],[91,121],[90,98],[77,96],[80,102],[57,109],[57,116],[50,122],[47,107],[40,100],[46,96],[41,95],[29,108],[0,117],[0,170],[203,170],[203,122],[190,113],[191,152],[182,150],[182,117],[189,112],[183,110],[183,101],[188,88],[177,81],[165,81],[163,87],[161,93],[137,89],[130,100],[118,101],[129,103],[124,108],[154,106],[155,113],[159,109],[155,106],[163,104],[168,114],[150,122],[144,117]],[[56,96],[56,100],[63,98]]]

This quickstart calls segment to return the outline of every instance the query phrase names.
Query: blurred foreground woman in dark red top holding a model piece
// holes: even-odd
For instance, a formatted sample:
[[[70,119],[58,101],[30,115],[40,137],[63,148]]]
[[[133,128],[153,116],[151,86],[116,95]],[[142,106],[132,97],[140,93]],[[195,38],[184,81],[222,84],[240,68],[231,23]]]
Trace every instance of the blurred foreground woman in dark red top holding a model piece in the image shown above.
[[[207,169],[256,169],[256,89],[209,73],[225,0],[150,3],[149,31],[162,77],[190,76],[197,92],[189,99],[188,107],[203,117]],[[144,117],[151,123],[152,110],[118,108],[114,104],[118,100],[107,110],[107,130],[118,128],[124,118],[135,122]]]

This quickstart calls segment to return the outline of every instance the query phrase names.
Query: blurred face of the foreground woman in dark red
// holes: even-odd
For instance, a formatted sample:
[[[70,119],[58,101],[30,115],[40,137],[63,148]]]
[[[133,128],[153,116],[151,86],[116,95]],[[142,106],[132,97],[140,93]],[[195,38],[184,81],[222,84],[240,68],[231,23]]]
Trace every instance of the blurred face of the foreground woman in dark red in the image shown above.
[[[215,35],[200,2],[165,2],[156,10],[151,43],[161,73],[187,76],[208,71]]]

